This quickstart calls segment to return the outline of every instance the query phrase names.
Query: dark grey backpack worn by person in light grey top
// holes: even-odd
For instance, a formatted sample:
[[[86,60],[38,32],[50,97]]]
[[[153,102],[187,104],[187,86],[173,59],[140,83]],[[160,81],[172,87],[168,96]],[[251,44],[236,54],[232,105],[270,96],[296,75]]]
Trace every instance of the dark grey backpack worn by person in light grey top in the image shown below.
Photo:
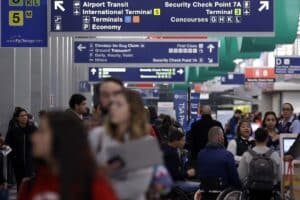
[[[258,154],[252,149],[248,152],[253,157],[249,166],[248,189],[272,191],[276,178],[274,161],[271,159],[273,150],[270,149],[264,154]]]

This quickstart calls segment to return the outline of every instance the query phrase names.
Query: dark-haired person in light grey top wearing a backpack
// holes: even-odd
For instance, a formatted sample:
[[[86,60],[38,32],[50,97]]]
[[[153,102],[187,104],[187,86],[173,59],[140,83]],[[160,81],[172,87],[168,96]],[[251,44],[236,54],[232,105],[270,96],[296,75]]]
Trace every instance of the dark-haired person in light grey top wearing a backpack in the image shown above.
[[[265,129],[256,130],[255,140],[256,147],[244,153],[238,172],[244,182],[246,199],[268,200],[274,198],[274,190],[280,185],[280,157],[267,147],[268,132]]]

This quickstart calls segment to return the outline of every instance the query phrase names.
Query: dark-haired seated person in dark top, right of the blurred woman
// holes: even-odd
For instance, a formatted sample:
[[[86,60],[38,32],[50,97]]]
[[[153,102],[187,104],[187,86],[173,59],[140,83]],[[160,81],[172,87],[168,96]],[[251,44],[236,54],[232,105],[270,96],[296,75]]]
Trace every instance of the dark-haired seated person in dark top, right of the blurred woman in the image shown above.
[[[162,151],[165,165],[174,181],[174,186],[187,193],[196,192],[199,189],[199,183],[186,180],[195,176],[195,169],[185,169],[180,156],[180,151],[185,146],[184,133],[172,127],[168,135],[168,143],[162,145]]]

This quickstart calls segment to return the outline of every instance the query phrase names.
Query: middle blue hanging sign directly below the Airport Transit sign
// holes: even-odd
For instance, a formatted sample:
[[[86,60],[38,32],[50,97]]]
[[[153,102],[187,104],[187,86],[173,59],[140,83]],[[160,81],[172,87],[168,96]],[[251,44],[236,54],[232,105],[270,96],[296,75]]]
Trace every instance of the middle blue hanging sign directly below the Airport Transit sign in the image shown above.
[[[218,42],[75,42],[75,63],[218,66]],[[129,65],[130,64],[130,65]],[[141,65],[139,65],[141,66]]]

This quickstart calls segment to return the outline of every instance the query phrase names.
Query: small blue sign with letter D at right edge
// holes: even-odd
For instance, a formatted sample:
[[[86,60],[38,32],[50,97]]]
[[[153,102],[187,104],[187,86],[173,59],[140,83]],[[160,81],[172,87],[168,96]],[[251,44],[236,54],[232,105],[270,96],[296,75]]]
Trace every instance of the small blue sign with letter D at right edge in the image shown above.
[[[276,57],[276,74],[300,74],[300,57]]]

